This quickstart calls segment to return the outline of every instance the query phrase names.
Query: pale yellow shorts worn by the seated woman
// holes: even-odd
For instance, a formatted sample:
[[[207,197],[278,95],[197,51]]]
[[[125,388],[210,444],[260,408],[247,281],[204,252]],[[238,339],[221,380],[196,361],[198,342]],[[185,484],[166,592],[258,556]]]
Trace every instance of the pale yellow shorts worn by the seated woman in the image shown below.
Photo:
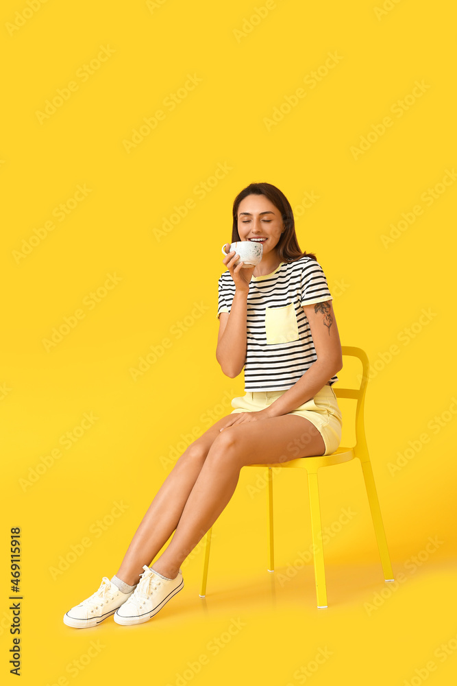
[[[235,409],[230,414],[264,410],[285,392],[285,390],[248,391],[244,396],[232,400],[232,407]],[[314,424],[325,443],[324,455],[330,455],[340,445],[343,415],[332,386],[325,385],[314,398],[287,414],[298,414]]]

